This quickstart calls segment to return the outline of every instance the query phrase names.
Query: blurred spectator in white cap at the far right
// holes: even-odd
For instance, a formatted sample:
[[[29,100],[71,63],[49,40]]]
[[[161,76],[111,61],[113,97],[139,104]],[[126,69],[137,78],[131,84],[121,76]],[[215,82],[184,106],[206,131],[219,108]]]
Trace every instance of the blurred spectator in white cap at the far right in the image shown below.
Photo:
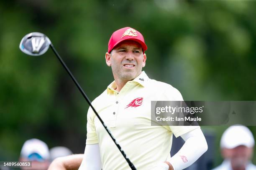
[[[224,161],[214,170],[256,170],[256,166],[250,162],[253,147],[254,138],[246,126],[230,126],[220,140]]]

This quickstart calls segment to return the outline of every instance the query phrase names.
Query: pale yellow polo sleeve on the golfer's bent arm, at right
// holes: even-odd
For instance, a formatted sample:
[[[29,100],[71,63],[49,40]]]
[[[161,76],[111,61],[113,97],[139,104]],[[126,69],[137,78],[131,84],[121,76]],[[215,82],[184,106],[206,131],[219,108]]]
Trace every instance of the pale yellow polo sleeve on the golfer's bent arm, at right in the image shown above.
[[[167,87],[164,92],[164,100],[166,101],[183,101],[183,97],[179,90],[172,87],[171,85]],[[167,130],[172,131],[174,136],[177,138],[180,135],[190,132],[196,128],[200,128],[200,126],[164,126]]]

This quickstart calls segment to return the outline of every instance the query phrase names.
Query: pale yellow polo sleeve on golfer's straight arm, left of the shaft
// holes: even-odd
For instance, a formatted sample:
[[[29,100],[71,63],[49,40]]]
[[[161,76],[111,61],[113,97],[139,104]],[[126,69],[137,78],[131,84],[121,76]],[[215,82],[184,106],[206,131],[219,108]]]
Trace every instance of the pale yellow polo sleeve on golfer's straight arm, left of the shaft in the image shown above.
[[[86,145],[98,143],[98,138],[95,130],[95,113],[93,112],[92,108],[89,107],[87,112],[87,138],[86,138]]]

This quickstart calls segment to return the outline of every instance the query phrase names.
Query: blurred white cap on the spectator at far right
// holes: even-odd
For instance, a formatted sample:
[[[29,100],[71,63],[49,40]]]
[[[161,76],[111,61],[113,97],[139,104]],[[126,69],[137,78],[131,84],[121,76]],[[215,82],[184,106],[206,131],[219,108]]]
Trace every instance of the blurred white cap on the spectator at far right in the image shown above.
[[[239,145],[248,148],[254,146],[254,138],[251,131],[243,125],[233,125],[225,130],[220,140],[221,148],[233,149]]]

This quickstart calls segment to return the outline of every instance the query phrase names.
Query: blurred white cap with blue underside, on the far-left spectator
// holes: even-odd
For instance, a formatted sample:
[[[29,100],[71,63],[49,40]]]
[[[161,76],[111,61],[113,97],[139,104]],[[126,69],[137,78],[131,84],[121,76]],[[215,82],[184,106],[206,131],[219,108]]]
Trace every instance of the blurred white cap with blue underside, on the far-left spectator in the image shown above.
[[[49,148],[41,140],[38,139],[30,139],[27,140],[21,149],[20,157],[23,157],[25,159],[30,160],[30,158],[33,157],[35,160],[49,160],[50,159],[50,153]]]

